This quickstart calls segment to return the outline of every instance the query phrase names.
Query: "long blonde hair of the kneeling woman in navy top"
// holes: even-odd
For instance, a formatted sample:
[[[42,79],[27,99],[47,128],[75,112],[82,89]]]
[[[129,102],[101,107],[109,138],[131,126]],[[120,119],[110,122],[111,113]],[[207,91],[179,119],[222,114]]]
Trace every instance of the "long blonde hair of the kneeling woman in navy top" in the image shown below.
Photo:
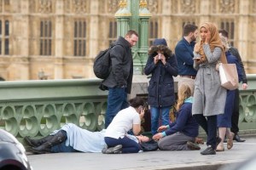
[[[188,85],[182,84],[177,91],[177,105],[176,110],[178,111],[183,105],[185,99],[191,96],[191,89]]]

